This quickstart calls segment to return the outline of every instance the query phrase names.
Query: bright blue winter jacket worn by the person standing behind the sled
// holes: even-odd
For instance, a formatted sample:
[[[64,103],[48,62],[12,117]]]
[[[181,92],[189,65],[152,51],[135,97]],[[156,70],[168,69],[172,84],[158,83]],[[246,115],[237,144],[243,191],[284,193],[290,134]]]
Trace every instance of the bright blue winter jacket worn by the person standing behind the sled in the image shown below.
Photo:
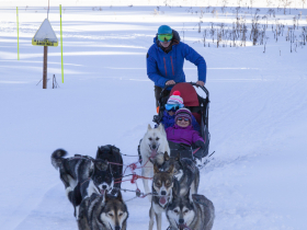
[[[155,82],[155,85],[161,88],[164,88],[169,80],[173,80],[175,83],[185,82],[183,62],[186,59],[197,66],[198,80],[206,82],[205,59],[189,45],[180,42],[180,36],[174,30],[173,36],[177,43],[173,43],[172,49],[168,54],[158,46],[157,36],[154,38],[154,45],[147,53],[148,78]]]

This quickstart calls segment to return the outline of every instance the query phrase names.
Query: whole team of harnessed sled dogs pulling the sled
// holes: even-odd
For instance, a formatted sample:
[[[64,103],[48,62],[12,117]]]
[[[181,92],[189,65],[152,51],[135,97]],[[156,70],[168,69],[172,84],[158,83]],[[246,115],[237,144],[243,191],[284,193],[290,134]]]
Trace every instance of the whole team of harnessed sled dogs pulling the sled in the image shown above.
[[[166,212],[170,230],[209,230],[214,222],[213,203],[197,194],[200,170],[187,158],[170,157],[167,134],[160,124],[148,126],[140,146],[141,176],[151,203],[149,230],[161,230]],[[95,159],[58,149],[52,164],[59,170],[66,195],[75,208],[79,230],[126,230],[128,209],[121,193],[123,159],[115,146],[98,148]]]

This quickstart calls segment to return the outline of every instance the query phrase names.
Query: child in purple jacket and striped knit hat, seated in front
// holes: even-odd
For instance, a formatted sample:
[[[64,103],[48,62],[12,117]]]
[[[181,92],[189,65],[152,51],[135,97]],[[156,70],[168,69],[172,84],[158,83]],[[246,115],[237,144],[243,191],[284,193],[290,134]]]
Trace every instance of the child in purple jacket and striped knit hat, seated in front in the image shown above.
[[[192,113],[187,108],[180,108],[175,112],[175,125],[166,129],[167,138],[169,141],[177,143],[186,143],[196,147],[205,148],[204,139],[200,136],[198,131],[194,130],[191,126]]]

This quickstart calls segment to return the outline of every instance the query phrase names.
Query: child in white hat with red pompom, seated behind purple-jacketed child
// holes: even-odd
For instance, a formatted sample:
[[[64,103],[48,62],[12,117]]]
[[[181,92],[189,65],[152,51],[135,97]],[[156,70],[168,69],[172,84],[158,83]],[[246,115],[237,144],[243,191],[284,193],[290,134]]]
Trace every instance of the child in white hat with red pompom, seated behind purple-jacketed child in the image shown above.
[[[183,106],[184,106],[183,99],[180,96],[180,92],[174,91],[166,104],[166,111],[163,113],[163,117],[161,120],[161,123],[164,126],[164,129],[172,127],[174,125],[174,114],[179,108],[182,108]],[[201,131],[201,127],[193,115],[192,115],[192,126],[194,130],[198,133]]]

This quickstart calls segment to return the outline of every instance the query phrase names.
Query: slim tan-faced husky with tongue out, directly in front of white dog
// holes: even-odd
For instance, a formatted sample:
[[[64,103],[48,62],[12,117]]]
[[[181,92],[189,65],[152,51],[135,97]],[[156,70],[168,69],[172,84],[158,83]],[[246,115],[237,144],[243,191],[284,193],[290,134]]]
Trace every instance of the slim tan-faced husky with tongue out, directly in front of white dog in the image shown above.
[[[155,175],[152,179],[152,198],[149,210],[149,230],[154,228],[154,218],[156,216],[157,229],[161,230],[162,212],[166,211],[169,203],[172,200],[172,187],[178,183],[173,176],[174,166],[170,165],[168,171],[159,171],[158,164],[154,164]]]

